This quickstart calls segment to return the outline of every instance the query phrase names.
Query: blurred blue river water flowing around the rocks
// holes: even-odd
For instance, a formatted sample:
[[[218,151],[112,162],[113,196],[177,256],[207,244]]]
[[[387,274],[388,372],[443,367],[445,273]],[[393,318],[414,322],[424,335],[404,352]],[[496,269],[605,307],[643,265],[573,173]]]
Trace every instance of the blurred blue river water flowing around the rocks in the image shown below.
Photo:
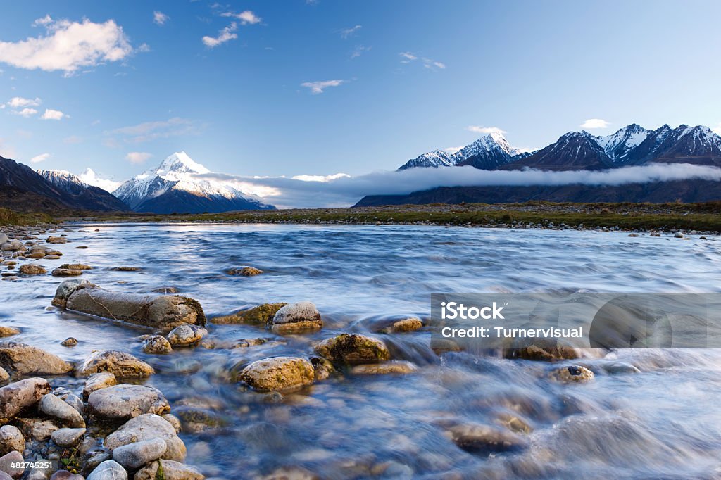
[[[277,337],[255,326],[210,324],[211,339],[265,338],[254,347],[146,355],[125,324],[50,307],[54,277],[0,285],[0,323],[14,339],[67,360],[92,350],[133,353],[156,368],[146,383],[174,409],[200,406],[211,430],[181,434],[187,463],[226,479],[297,466],[321,478],[720,478],[721,355],[715,349],[635,349],[584,360],[588,383],[549,381],[548,363],[435,355],[430,333],[384,335],[409,375],[333,375],[293,394],[230,381],[236,365],[310,355],[339,332],[373,332],[388,319],[430,315],[433,292],[717,292],[721,241],[623,233],[413,226],[70,224],[62,260],[113,290],[174,286],[208,316],[265,302],[314,302],[324,329]],[[97,228],[97,231],[96,231]],[[88,249],[74,249],[87,245]],[[117,272],[118,265],[142,267]],[[224,270],[252,265],[257,277]],[[73,336],[79,345],[61,347]],[[615,362],[615,363],[613,363]],[[562,363],[561,365],[563,365]],[[608,365],[634,365],[606,368]],[[611,372],[611,373],[609,373]],[[57,379],[80,389],[80,379]],[[513,421],[510,421],[513,419]],[[522,440],[506,452],[459,448],[459,425]],[[191,430],[188,432],[187,430]]]

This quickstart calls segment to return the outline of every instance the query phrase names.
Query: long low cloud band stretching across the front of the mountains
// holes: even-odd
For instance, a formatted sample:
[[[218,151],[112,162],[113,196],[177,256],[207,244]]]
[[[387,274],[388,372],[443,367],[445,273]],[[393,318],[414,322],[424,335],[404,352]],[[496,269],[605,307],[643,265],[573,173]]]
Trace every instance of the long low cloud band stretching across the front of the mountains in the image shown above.
[[[721,168],[691,164],[651,164],[619,169],[570,172],[525,170],[479,170],[472,166],[407,169],[373,172],[350,177],[299,175],[289,177],[242,177],[200,174],[198,178],[224,182],[278,208],[347,207],[366,195],[407,195],[435,187],[530,186],[530,185],[624,185],[672,180],[721,180]]]

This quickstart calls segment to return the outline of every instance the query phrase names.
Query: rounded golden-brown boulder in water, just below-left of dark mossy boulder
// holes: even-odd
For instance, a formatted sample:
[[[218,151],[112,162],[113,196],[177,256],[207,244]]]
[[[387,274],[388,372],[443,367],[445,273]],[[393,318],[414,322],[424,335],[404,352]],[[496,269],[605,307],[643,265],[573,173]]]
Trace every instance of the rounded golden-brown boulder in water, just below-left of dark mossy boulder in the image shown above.
[[[299,357],[271,357],[257,360],[244,368],[238,380],[257,391],[278,391],[310,385],[313,365]]]

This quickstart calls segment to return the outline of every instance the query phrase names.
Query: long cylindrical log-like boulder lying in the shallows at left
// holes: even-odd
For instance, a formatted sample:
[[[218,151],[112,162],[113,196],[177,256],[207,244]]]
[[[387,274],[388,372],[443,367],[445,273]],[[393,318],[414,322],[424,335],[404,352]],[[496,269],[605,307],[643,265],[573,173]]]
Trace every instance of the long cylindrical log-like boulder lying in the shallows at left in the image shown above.
[[[141,295],[94,287],[78,288],[68,296],[66,308],[159,329],[172,329],[182,324],[205,325],[200,303],[180,295]]]

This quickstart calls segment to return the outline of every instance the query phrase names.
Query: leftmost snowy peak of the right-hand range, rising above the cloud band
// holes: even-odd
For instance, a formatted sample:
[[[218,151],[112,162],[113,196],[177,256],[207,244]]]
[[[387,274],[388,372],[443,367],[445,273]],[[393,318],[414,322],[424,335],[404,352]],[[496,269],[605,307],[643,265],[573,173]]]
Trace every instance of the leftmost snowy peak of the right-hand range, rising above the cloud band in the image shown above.
[[[456,165],[471,165],[478,169],[492,170],[523,156],[525,155],[521,148],[513,148],[500,130],[494,130],[454,154],[445,150],[430,151],[407,161],[399,167],[399,170]]]

